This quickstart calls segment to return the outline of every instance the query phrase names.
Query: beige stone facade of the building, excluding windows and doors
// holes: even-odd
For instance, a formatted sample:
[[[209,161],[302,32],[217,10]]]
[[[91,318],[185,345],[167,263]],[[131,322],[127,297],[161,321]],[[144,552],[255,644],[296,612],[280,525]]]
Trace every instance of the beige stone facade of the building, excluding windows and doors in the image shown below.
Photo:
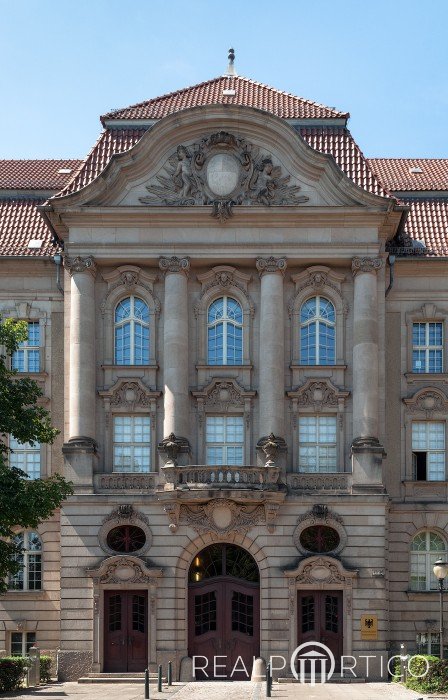
[[[274,189],[261,160],[238,179],[249,142],[278,169]],[[147,662],[172,660],[178,674],[191,652],[188,571],[216,542],[257,562],[262,657],[291,655],[297,593],[316,589],[342,591],[344,654],[415,647],[438,600],[411,591],[410,545],[428,529],[446,538],[448,515],[447,482],[414,478],[410,424],[446,420],[448,380],[412,372],[412,322],[445,323],[448,287],[443,260],[403,259],[385,296],[402,208],[342,178],[288,124],[232,106],[162,119],[104,177],[50,204],[64,296],[51,260],[11,260],[0,313],[41,324],[36,379],[62,431],[43,473],[63,471],[75,494],[39,527],[42,590],[0,602],[0,648],[22,624],[60,650],[61,678],[102,671],[104,592],[145,591]],[[149,308],[144,364],[114,360],[114,312],[129,296]],[[242,309],[238,364],[207,359],[207,310],[223,296]],[[335,309],[331,364],[299,354],[300,309],[315,296]],[[113,470],[114,419],[129,415],[150,417],[146,473]],[[243,416],[240,467],[206,465],[207,416]],[[299,469],[302,416],[336,419],[330,473]],[[111,523],[141,527],[146,547],[114,554]],[[336,530],[334,551],[303,546],[316,524]],[[363,638],[363,615],[378,617],[376,639]]]

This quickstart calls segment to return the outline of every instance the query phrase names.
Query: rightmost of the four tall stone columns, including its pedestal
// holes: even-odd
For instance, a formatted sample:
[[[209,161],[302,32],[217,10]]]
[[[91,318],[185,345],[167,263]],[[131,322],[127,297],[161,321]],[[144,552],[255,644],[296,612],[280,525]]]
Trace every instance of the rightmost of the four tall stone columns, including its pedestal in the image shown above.
[[[353,478],[379,484],[383,448],[379,443],[378,287],[381,258],[353,258]]]

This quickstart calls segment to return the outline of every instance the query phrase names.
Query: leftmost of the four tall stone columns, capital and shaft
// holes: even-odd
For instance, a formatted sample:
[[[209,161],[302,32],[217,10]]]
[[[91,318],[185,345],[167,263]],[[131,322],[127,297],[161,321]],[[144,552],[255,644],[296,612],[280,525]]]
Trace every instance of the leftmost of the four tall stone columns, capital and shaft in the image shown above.
[[[65,258],[70,283],[70,441],[95,437],[95,274],[92,256]]]

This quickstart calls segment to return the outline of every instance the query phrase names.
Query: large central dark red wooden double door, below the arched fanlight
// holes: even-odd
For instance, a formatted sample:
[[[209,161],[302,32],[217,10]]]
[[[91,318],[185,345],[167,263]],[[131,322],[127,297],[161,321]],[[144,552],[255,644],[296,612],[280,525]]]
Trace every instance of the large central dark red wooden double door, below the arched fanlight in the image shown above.
[[[204,657],[195,660],[197,680],[250,680],[260,654],[259,585],[231,577],[190,584],[188,629],[189,655]]]

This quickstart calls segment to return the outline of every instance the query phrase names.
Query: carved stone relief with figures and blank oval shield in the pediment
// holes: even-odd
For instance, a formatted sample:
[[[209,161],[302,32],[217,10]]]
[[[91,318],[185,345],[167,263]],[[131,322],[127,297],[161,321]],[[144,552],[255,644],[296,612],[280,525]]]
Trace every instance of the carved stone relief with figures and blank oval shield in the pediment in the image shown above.
[[[199,143],[180,144],[146,189],[142,204],[152,206],[212,205],[212,216],[226,221],[234,205],[302,204],[300,186],[274,163],[269,153],[226,131]]]

